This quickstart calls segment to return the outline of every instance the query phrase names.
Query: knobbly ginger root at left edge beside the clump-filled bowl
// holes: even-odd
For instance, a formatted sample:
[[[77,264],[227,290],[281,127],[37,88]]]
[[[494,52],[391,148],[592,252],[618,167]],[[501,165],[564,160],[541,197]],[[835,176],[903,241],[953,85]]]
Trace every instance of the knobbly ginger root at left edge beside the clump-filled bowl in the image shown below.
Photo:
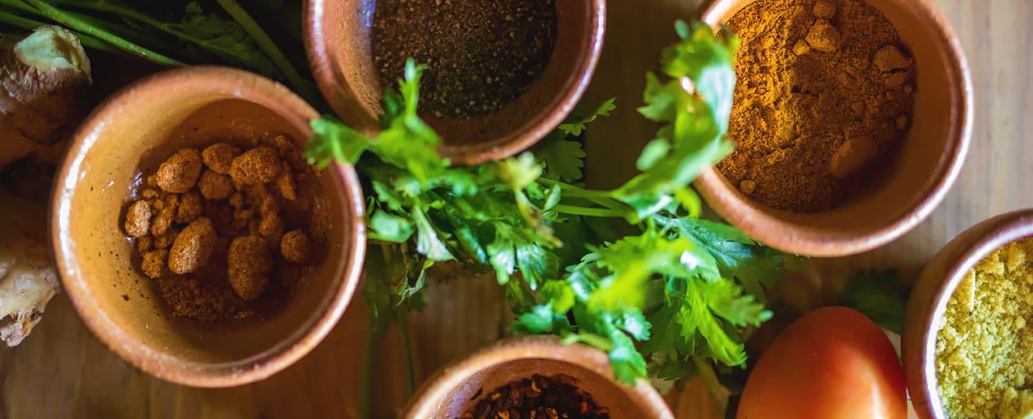
[[[91,83],[90,61],[67,30],[0,35],[0,340],[9,347],[29,335],[58,292],[45,197],[37,197],[51,174],[36,166],[64,154]]]

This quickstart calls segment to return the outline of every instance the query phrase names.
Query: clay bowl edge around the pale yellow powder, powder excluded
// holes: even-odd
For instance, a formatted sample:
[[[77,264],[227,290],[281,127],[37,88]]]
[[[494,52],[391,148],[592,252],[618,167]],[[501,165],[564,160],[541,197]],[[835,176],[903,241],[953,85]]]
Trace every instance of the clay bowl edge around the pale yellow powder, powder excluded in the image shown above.
[[[936,379],[936,337],[947,301],[973,266],[999,247],[1033,236],[1033,209],[979,222],[956,237],[926,265],[911,291],[901,334],[908,393],[924,419],[946,419]]]

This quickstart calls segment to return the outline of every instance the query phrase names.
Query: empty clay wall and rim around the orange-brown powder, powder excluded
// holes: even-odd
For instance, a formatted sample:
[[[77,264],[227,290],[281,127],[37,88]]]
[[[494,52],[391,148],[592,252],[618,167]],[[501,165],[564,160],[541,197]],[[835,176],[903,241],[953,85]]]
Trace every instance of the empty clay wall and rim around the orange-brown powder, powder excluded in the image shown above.
[[[702,19],[726,23],[753,0],[717,0]],[[867,251],[903,236],[933,212],[958,178],[972,130],[972,82],[958,37],[926,0],[867,0],[897,28],[916,65],[914,114],[898,160],[839,207],[790,213],[744,196],[716,169],[695,186],[728,222],[781,250],[813,257]]]

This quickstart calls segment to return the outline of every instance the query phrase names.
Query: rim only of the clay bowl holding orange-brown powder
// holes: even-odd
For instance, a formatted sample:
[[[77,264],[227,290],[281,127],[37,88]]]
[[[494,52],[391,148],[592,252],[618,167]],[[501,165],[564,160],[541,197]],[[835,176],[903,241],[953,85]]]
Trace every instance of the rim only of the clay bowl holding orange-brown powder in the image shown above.
[[[755,0],[717,0],[702,13],[702,21],[715,28],[724,21],[739,3]],[[972,77],[968,61],[958,35],[942,11],[929,0],[894,0],[920,20],[932,22],[937,38],[945,46],[946,55],[940,55],[940,64],[947,68],[949,92],[953,98],[951,113],[954,123],[947,132],[947,145],[937,162],[935,172],[891,221],[865,231],[835,231],[815,228],[772,215],[776,211],[731,187],[716,168],[705,169],[695,181],[700,194],[711,208],[729,223],[743,229],[758,241],[783,251],[821,258],[856,255],[885,245],[904,236],[929,217],[943,202],[954,184],[968,155],[972,137],[973,98]]]

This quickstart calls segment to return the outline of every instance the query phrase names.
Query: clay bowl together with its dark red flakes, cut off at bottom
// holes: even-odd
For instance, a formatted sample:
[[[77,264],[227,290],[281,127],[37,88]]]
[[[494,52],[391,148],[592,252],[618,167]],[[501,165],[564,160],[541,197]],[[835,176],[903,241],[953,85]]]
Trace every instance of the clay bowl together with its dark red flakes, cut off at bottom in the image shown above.
[[[402,417],[674,419],[648,382],[618,383],[605,353],[541,336],[504,340],[441,369]]]

